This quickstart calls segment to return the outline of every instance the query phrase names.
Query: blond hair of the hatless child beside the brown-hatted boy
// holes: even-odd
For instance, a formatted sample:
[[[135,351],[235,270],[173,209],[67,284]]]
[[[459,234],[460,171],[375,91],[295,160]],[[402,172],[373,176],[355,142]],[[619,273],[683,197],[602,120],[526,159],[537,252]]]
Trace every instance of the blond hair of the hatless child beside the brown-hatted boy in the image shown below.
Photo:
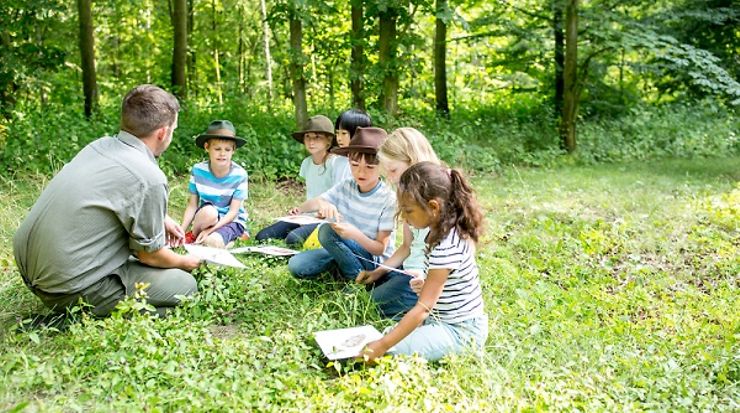
[[[427,138],[414,128],[398,128],[391,132],[378,149],[378,159],[383,162],[406,162],[409,165],[425,161],[440,164]]]

